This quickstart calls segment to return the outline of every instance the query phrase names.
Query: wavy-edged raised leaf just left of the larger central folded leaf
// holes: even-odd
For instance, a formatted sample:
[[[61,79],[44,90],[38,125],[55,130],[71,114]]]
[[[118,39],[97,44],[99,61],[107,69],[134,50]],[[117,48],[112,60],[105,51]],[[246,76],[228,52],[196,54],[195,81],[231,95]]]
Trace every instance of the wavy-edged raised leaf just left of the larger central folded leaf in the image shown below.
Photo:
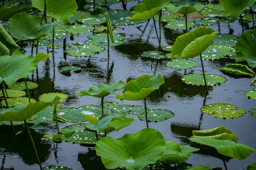
[[[121,80],[109,86],[108,84],[100,84],[98,87],[90,87],[89,90],[82,90],[78,93],[81,96],[93,96],[93,97],[105,97],[109,94],[114,94],[117,90],[123,90],[125,88],[125,83]]]

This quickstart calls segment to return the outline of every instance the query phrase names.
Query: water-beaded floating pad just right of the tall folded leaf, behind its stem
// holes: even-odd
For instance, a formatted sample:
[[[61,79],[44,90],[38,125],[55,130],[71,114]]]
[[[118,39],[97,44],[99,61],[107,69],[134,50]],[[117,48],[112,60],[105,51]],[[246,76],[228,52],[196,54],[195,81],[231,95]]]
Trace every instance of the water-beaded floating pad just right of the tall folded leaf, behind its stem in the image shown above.
[[[207,49],[202,53],[203,59],[220,59],[220,58],[228,58],[226,57],[226,53],[230,50],[234,51],[234,49],[230,46],[222,46],[222,45],[209,45]],[[235,53],[234,53],[235,54]],[[195,58],[200,59],[200,56],[196,56]]]

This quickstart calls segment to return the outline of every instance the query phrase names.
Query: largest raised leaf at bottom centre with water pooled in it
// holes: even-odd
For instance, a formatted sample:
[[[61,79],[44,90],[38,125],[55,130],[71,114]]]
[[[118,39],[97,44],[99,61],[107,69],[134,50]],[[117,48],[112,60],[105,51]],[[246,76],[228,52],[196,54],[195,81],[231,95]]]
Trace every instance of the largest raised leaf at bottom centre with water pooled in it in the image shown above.
[[[101,156],[107,169],[142,169],[148,164],[156,163],[163,156],[165,148],[163,135],[151,128],[126,134],[118,139],[105,137],[97,141],[95,146],[96,154]]]

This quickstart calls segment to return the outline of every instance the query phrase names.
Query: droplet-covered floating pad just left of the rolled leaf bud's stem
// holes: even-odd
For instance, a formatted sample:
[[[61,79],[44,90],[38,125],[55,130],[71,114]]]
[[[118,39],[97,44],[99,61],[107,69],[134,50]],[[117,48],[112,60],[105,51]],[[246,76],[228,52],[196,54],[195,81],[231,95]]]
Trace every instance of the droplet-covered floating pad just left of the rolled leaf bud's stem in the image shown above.
[[[82,45],[79,49],[66,49],[65,52],[70,56],[89,57],[104,50],[105,48],[98,45]]]

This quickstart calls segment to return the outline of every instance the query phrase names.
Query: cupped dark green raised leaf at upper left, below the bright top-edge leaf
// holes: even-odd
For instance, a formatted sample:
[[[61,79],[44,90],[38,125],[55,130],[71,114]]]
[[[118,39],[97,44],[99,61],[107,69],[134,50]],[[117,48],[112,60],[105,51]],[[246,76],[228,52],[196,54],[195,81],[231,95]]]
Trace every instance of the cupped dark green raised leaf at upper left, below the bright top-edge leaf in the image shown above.
[[[55,23],[51,23],[41,26],[36,16],[26,12],[15,14],[7,23],[11,36],[18,40],[40,39],[50,33],[55,25]]]

